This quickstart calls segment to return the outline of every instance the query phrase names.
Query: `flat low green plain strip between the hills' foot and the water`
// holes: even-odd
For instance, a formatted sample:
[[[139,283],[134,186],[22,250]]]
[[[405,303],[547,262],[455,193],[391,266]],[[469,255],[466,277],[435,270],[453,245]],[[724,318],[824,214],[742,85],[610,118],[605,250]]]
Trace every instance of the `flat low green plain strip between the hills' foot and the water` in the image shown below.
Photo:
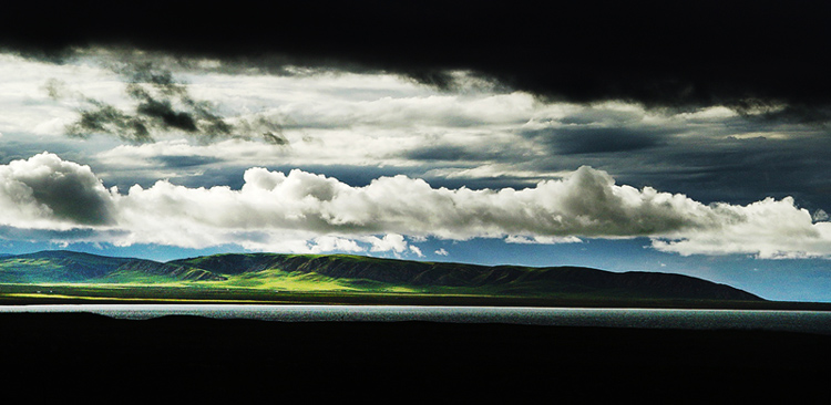
[[[586,294],[551,294],[523,297],[476,293],[465,289],[416,291],[360,290],[331,282],[321,284],[260,283],[256,280],[229,280],[223,287],[209,282],[154,283],[0,283],[3,304],[85,304],[85,303],[239,303],[239,304],[401,304],[401,305],[519,305],[583,308],[710,308],[710,309],[802,309],[831,310],[828,305],[779,302],[736,302],[718,300],[630,299]],[[245,285],[245,284],[249,285]],[[236,285],[235,285],[236,284]],[[263,288],[263,285],[276,288]],[[819,307],[818,307],[819,305]],[[817,308],[814,308],[817,307]]]

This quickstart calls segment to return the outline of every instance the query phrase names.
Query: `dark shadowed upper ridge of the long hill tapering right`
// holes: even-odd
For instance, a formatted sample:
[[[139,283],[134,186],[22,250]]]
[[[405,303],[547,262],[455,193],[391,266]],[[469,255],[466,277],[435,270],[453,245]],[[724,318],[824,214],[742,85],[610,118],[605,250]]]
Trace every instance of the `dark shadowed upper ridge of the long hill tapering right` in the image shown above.
[[[445,288],[501,288],[530,293],[541,284],[560,293],[629,290],[663,298],[761,300],[758,295],[700,278],[648,271],[613,272],[588,267],[483,266],[373,258],[355,255],[220,253],[168,263],[191,264],[219,274],[280,269],[336,279],[359,279],[392,284]],[[236,263],[244,263],[236,264]],[[537,284],[535,288],[534,284]]]

